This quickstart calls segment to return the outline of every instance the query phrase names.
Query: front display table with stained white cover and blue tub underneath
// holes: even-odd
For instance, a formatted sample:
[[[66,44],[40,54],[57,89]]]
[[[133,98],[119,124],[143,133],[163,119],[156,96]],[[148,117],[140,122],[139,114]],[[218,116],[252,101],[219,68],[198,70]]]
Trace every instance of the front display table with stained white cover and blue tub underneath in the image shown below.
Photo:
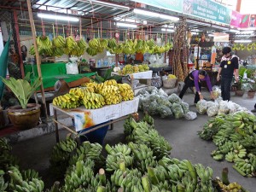
[[[49,110],[50,115],[54,115],[56,141],[59,142],[58,125],[62,125],[67,131],[71,131],[75,135],[80,136],[90,133],[90,135],[86,135],[86,137],[90,137],[89,140],[102,143],[108,131],[108,125],[126,119],[129,114],[137,113],[138,103],[139,99],[134,98],[131,101],[106,105],[103,108],[97,109],[86,109],[84,107],[70,109],[59,108],[51,103],[49,104]],[[67,114],[73,121],[73,127],[69,128],[58,121],[57,112]],[[99,129],[102,131],[99,132]]]

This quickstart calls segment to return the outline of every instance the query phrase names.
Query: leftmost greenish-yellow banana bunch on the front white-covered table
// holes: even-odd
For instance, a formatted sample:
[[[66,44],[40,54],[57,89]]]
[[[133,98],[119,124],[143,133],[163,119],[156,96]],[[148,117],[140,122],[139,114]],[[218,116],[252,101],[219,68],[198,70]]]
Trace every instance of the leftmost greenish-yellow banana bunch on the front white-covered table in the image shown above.
[[[56,96],[52,102],[60,108],[79,108],[79,96],[73,93],[67,93],[63,96]]]

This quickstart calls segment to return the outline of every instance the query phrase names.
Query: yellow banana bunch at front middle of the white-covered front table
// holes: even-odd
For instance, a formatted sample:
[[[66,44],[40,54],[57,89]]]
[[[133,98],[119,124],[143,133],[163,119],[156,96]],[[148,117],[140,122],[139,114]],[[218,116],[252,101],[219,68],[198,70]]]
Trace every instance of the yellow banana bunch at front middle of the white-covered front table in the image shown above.
[[[101,94],[87,92],[84,95],[83,104],[87,109],[102,108],[105,105],[105,99]]]

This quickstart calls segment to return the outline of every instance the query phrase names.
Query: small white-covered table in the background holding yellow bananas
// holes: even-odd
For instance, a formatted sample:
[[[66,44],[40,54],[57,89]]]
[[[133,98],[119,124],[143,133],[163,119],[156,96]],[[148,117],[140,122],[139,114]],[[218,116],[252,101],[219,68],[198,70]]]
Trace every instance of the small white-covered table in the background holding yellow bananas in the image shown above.
[[[139,72],[139,73],[131,73],[131,74],[127,74],[127,75],[122,75],[122,77],[131,79],[131,88],[132,88],[132,90],[136,90],[136,89],[140,89],[142,87],[140,86],[140,87],[135,88],[134,80],[135,79],[147,79],[147,86],[150,86],[151,79],[152,79],[152,73],[153,73],[153,71],[150,70],[147,72]],[[112,72],[111,75],[113,76],[113,75],[120,75],[120,74]],[[145,86],[145,85],[143,85],[143,86]]]

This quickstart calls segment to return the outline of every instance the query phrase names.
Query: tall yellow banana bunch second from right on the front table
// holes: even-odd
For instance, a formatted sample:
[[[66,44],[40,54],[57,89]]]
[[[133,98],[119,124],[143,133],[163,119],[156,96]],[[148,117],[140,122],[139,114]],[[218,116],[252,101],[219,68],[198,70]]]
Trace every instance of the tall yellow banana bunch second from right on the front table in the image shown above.
[[[105,85],[102,89],[102,96],[107,105],[118,104],[122,102],[122,96],[119,88],[114,85]]]

